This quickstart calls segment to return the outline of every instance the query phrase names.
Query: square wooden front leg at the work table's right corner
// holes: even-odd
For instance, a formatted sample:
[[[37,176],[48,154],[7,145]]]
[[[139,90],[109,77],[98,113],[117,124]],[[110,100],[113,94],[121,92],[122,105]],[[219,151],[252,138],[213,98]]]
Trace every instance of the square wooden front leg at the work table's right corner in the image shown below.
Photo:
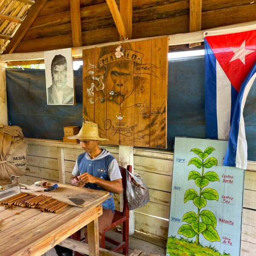
[[[89,255],[99,256],[99,225],[98,218],[87,224],[87,236],[89,245]]]

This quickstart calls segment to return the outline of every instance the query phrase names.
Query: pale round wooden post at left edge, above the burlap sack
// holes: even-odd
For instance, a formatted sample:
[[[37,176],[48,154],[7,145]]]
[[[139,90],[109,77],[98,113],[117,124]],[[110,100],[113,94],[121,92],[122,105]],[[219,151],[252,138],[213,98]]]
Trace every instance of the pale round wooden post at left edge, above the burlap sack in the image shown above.
[[[6,67],[5,62],[0,62],[0,124],[8,125],[7,95],[6,95]]]

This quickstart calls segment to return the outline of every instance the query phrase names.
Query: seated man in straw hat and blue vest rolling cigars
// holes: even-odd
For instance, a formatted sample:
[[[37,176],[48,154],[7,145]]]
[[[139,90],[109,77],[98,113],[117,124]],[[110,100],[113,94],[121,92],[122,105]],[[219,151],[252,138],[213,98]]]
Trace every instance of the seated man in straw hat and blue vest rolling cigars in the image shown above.
[[[105,190],[111,193],[122,192],[122,176],[116,159],[105,149],[99,148],[98,125],[93,122],[84,122],[79,134],[68,137],[79,139],[83,154],[77,157],[73,169],[71,185],[90,189]],[[113,196],[102,203],[103,213],[99,217],[99,246],[101,246],[102,231],[110,227],[114,216]],[[85,242],[87,233],[85,232]]]

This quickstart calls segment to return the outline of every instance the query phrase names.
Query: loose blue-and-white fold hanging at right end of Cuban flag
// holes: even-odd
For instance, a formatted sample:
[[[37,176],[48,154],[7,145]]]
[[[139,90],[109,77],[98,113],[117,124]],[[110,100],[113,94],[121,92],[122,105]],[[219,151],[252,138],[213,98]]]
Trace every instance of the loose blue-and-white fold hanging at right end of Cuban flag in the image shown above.
[[[244,105],[242,105],[242,100],[244,101],[247,98],[248,93],[244,93],[246,89],[250,90],[251,83],[248,84],[252,76],[256,73],[256,63],[254,64],[252,70],[250,73],[247,75],[246,79],[244,80],[243,84],[241,85],[238,98],[236,101],[236,106],[233,114],[233,119],[231,122],[231,127],[230,127],[230,135],[229,135],[229,141],[227,145],[227,152],[225,154],[224,158],[224,166],[233,166],[233,167],[238,167],[241,169],[246,169],[247,165],[247,142],[244,137],[239,137],[239,128],[242,131],[242,134],[245,134],[245,128],[244,128],[244,122],[241,122],[241,117],[243,115],[243,109]],[[239,137],[239,138],[238,138]],[[240,140],[239,143],[242,144],[242,147],[244,150],[238,151],[238,139]],[[236,161],[236,156],[237,153],[239,155],[239,159],[243,160],[246,163],[237,163]]]

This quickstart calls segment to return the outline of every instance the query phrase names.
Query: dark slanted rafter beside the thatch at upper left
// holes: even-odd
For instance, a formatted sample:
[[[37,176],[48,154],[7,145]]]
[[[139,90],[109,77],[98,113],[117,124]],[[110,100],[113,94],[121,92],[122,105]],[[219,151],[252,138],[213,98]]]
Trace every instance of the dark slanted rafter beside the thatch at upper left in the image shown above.
[[[29,27],[37,17],[38,13],[47,3],[47,0],[36,1],[31,8],[29,9],[26,18],[23,20],[23,23],[20,25],[19,30],[13,36],[10,43],[7,45],[6,50],[4,53],[12,53],[16,49],[17,45],[20,43],[26,32],[28,31]]]

